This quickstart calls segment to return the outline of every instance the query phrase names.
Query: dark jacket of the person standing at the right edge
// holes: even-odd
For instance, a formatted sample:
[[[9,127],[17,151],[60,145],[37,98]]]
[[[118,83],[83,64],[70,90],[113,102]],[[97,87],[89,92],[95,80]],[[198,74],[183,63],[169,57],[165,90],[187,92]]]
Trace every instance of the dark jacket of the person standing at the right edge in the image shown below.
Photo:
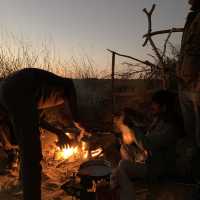
[[[200,72],[200,11],[189,13],[181,42],[178,75],[184,85],[196,82]]]

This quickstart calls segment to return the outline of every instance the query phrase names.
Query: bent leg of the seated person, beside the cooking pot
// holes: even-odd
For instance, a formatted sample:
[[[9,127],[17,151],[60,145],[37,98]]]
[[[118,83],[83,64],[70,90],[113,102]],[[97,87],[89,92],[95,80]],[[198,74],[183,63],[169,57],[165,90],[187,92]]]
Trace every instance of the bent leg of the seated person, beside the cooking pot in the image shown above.
[[[118,168],[111,177],[111,180],[114,181],[113,186],[119,186],[120,200],[136,199],[132,178],[143,179],[146,177],[146,172],[147,169],[144,164],[133,164],[129,160],[120,161]]]

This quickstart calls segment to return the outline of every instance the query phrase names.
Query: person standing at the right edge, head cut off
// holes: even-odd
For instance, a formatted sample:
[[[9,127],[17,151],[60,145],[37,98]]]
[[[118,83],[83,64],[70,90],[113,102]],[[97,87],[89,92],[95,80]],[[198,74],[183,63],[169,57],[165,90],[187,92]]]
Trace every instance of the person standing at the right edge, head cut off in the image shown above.
[[[181,41],[180,59],[177,65],[179,78],[179,102],[186,138],[179,143],[177,166],[180,175],[200,177],[200,0],[189,0],[189,12]]]

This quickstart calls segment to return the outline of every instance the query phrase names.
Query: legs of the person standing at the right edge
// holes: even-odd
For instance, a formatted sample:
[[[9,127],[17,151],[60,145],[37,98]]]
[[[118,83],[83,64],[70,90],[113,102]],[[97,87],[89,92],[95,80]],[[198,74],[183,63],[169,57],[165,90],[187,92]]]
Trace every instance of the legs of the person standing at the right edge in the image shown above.
[[[200,86],[200,85],[199,85]],[[177,160],[177,167],[181,176],[196,176],[199,166],[199,147],[200,147],[200,87],[188,87],[179,91],[179,100],[181,105],[182,116],[184,119],[184,129],[187,134],[181,144],[180,155]],[[184,168],[182,166],[184,165]],[[193,175],[195,174],[195,175]]]

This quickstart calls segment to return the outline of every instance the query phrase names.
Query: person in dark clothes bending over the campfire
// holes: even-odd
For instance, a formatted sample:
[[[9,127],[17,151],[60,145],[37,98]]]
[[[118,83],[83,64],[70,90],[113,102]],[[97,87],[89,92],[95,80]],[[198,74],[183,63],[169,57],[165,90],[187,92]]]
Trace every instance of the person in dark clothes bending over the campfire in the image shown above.
[[[39,110],[60,104],[64,104],[66,115],[78,126],[76,92],[71,79],[25,68],[0,83],[0,105],[9,116],[20,149],[24,200],[41,199]],[[60,145],[66,144],[66,135],[58,135],[58,140]]]

